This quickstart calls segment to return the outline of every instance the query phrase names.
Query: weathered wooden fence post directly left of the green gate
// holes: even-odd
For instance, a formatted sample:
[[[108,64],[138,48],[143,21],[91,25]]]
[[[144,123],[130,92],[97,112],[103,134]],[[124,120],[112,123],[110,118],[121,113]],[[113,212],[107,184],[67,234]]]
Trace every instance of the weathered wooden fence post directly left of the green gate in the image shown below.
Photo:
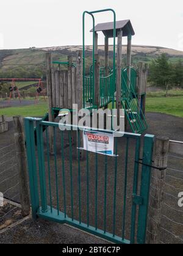
[[[20,201],[21,214],[27,216],[30,213],[29,188],[27,178],[27,158],[23,132],[23,119],[21,117],[13,117],[15,125],[15,148],[16,161],[18,163],[19,179],[20,179]]]

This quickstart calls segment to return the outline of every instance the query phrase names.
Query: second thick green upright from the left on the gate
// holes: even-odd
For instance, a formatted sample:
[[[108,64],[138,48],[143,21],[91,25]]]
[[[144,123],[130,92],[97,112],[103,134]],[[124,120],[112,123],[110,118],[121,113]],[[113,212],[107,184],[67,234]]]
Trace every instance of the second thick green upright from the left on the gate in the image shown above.
[[[40,175],[40,192],[41,192],[41,211],[47,211],[47,196],[46,196],[46,176],[45,176],[45,159],[43,148],[43,126],[40,124],[42,119],[35,119],[36,134],[37,134],[37,153],[38,166]]]

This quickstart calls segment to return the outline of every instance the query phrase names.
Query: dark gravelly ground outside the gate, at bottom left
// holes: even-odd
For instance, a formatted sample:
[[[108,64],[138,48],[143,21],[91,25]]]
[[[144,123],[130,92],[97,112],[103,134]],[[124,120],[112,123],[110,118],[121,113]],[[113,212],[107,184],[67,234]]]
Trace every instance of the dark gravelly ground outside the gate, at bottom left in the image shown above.
[[[28,219],[2,233],[0,244],[103,244],[104,240],[66,225]]]

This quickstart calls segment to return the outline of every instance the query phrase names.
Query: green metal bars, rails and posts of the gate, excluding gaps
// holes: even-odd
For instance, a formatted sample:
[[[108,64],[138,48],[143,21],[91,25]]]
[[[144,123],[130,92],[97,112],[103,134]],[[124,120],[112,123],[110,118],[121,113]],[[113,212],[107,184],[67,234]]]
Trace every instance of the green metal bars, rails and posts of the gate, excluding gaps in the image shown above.
[[[92,227],[89,224],[89,167],[88,167],[88,157],[87,157],[87,224],[82,222],[81,219],[81,169],[80,169],[80,147],[78,147],[78,189],[79,189],[79,221],[74,219],[73,210],[71,214],[71,218],[66,214],[66,202],[65,202],[65,170],[62,169],[63,172],[63,205],[64,212],[59,210],[59,190],[58,190],[58,170],[57,170],[57,152],[56,152],[56,128],[59,127],[59,123],[46,122],[42,119],[35,119],[31,117],[27,117],[24,120],[25,123],[25,132],[26,132],[26,147],[27,147],[27,162],[29,167],[29,183],[30,183],[30,197],[32,202],[32,217],[36,219],[37,217],[48,219],[50,221],[56,221],[60,223],[67,223],[77,227],[79,229],[85,230],[89,233],[93,233],[94,235],[98,235],[101,238],[105,238],[114,243],[121,244],[129,244],[135,243],[145,243],[146,237],[146,221],[147,221],[147,213],[148,213],[148,200],[149,200],[149,188],[150,188],[150,177],[151,177],[151,161],[152,161],[152,149],[154,143],[154,136],[146,135],[144,139],[143,145],[143,164],[148,166],[142,167],[142,180],[140,186],[140,196],[138,196],[138,169],[139,169],[139,158],[140,158],[140,134],[131,134],[131,133],[121,133],[127,139],[126,144],[126,165],[125,165],[125,177],[124,177],[124,206],[123,206],[123,227],[121,236],[115,235],[115,227],[116,223],[116,195],[117,195],[117,172],[118,172],[118,159],[115,158],[115,175],[114,175],[114,189],[113,189],[113,232],[106,232],[106,222],[104,222],[104,229],[98,229],[98,222],[96,216],[98,216],[98,157],[96,154],[96,178],[95,178],[95,227]],[[37,132],[37,156],[38,156],[38,174],[40,180],[40,196],[41,196],[41,205],[39,203],[38,196],[38,178],[37,178],[37,165],[35,161],[35,142],[34,142],[34,123],[36,123],[36,132]],[[49,144],[48,144],[48,127],[52,126],[54,128],[54,161],[55,161],[55,175],[56,175],[56,194],[57,194],[57,208],[52,208],[52,190],[51,190],[51,182],[50,182],[50,166],[49,166]],[[84,130],[84,127],[74,126],[74,125],[63,125],[66,128],[70,128],[69,131],[69,142],[70,142],[70,176],[72,177],[72,148],[71,148],[71,130],[76,130],[77,137],[79,139],[79,130]],[[46,127],[46,148],[48,150],[47,158],[48,158],[48,186],[49,186],[49,204],[47,202],[47,192],[46,192],[46,178],[45,178],[45,153],[43,148],[43,127]],[[113,133],[110,130],[100,130],[105,131],[106,133]],[[64,153],[63,153],[63,131],[61,145],[62,145],[62,164],[64,167]],[[126,189],[127,189],[127,160],[128,160],[128,152],[129,152],[129,139],[135,139],[136,148],[135,148],[135,166],[134,166],[134,185],[132,191],[132,215],[131,215],[131,239],[126,240],[124,238],[124,230],[126,227],[125,216],[126,216]],[[115,143],[115,154],[117,155],[117,138]],[[79,146],[79,144],[78,144]],[[73,186],[73,181],[71,180],[71,188]],[[107,188],[107,159],[105,159],[105,181],[104,181],[104,195],[106,195]],[[71,191],[72,193],[72,191]],[[71,196],[72,198],[72,196]],[[106,205],[107,205],[107,197],[104,198],[104,219],[106,219]],[[138,229],[137,229],[137,239],[135,238],[135,224],[137,221],[137,206],[139,207],[138,211]],[[71,208],[73,209],[73,201],[71,202]]]

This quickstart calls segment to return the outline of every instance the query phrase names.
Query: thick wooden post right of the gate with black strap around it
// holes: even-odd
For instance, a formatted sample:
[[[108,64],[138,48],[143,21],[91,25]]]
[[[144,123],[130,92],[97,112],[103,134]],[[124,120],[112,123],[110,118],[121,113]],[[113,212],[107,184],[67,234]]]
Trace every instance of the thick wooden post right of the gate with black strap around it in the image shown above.
[[[152,170],[147,232],[147,243],[149,244],[159,243],[161,208],[168,163],[168,150],[169,139],[167,137],[156,137],[153,165],[163,170]]]

